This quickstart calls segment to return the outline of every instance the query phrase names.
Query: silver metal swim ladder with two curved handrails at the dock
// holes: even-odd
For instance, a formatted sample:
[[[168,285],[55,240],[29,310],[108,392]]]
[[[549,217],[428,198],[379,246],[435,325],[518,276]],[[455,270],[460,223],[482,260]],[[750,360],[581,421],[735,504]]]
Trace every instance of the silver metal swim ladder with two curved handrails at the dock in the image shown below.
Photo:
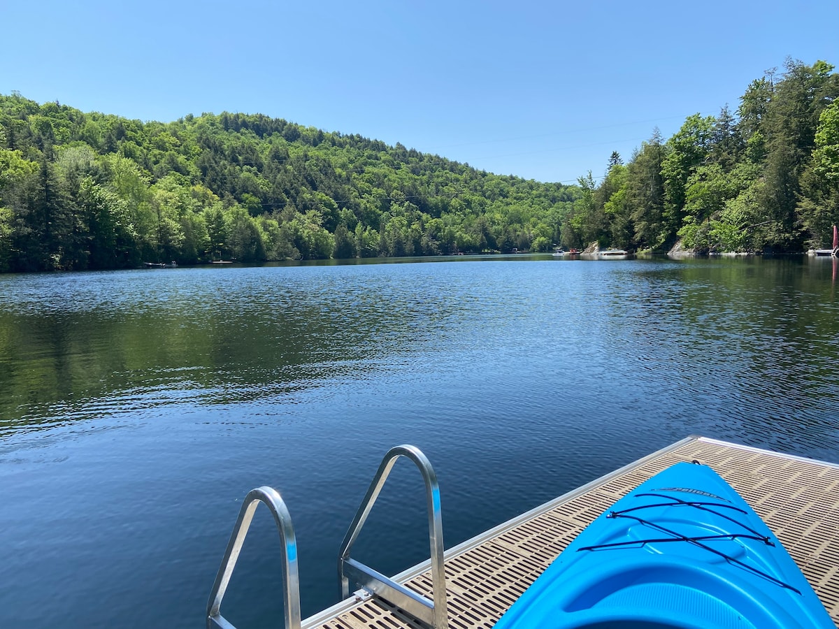
[[[393,465],[402,456],[414,462],[414,465],[420,469],[423,481],[425,481],[433,600],[409,590],[404,585],[389,579],[356,559],[350,558],[352,544],[355,543],[358,533],[361,532],[364,522],[367,521],[367,516],[373,508],[379,492],[382,491],[384,482],[388,480]],[[212,586],[210,600],[207,602],[207,629],[236,629],[224,616],[221,616],[221,600],[224,598],[227,585],[230,583],[230,577],[242,550],[242,543],[245,541],[248,528],[250,528],[253,520],[253,512],[256,511],[259,502],[263,502],[274,516],[280,541],[283,544],[285,628],[300,629],[300,577],[297,569],[297,543],[294,539],[294,527],[291,525],[289,510],[285,507],[279,492],[265,486],[249,491],[239,511],[239,517],[233,527],[230,541],[227,543],[227,550],[224,558],[221,559],[221,567],[216,574],[216,581]],[[426,625],[432,626],[434,629],[447,629],[446,574],[443,569],[443,523],[440,513],[440,486],[437,484],[437,476],[430,461],[419,448],[413,445],[398,445],[388,450],[388,453],[384,456],[376,476],[373,477],[373,482],[367,489],[367,494],[364,496],[361,506],[358,507],[356,517],[347,531],[347,536],[341,543],[341,553],[338,558],[338,577],[341,581],[342,599],[349,597],[349,585],[352,581],[361,585],[371,595],[378,596],[391,605],[399,607]]]

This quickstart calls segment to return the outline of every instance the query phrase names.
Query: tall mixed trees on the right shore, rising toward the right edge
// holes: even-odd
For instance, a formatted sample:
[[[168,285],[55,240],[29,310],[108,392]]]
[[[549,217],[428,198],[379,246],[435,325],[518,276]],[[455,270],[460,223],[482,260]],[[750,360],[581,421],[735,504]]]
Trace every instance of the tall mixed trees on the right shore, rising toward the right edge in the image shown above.
[[[839,222],[839,75],[824,61],[788,59],[752,81],[736,115],[690,116],[658,132],[628,164],[612,153],[600,183],[560,226],[579,247],[697,252],[801,252],[831,242]]]

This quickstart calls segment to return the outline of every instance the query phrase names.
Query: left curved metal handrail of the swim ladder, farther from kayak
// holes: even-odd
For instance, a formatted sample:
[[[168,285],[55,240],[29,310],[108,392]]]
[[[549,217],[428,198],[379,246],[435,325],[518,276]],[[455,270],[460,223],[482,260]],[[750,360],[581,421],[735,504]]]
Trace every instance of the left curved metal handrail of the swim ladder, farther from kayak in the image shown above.
[[[213,627],[232,629],[230,622],[221,616],[221,599],[224,598],[233,569],[239,559],[239,553],[242,551],[242,543],[251,526],[253,512],[256,511],[260,502],[263,502],[274,516],[283,546],[285,629],[300,629],[300,575],[297,570],[297,542],[294,538],[294,527],[291,525],[289,510],[285,507],[279,491],[268,486],[248,491],[248,496],[245,496],[242,502],[236,526],[233,527],[227,550],[224,558],[221,559],[221,567],[216,574],[216,581],[212,585],[210,600],[207,601],[207,629],[213,629]]]

